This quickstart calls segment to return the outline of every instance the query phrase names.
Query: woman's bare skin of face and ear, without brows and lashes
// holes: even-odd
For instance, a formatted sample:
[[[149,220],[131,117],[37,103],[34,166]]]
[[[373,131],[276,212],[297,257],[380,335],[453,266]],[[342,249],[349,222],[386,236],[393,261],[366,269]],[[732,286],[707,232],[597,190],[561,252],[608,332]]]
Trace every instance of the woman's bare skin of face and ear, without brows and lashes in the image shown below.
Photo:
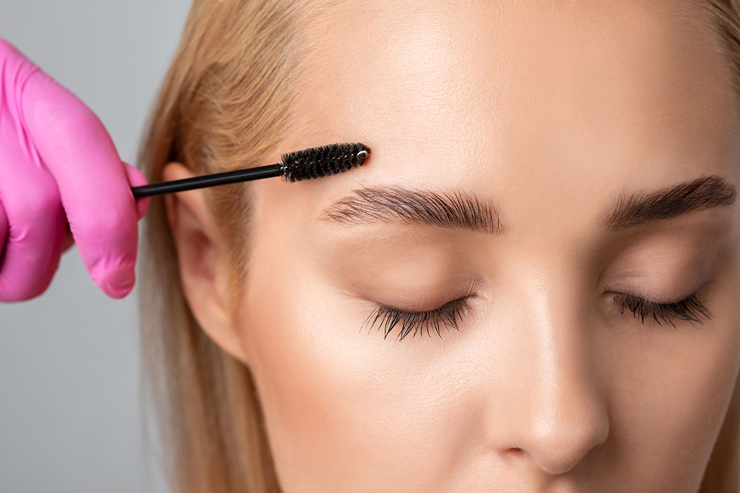
[[[252,184],[235,323],[203,191],[167,198],[189,304],[252,370],[286,493],[699,489],[740,364],[739,206],[611,233],[599,213],[702,173],[740,182],[721,39],[676,1],[509,3],[332,10],[309,38],[300,121],[265,164],[334,142],[372,154]],[[170,163],[164,178],[188,176]],[[506,232],[317,220],[381,184],[493,197]],[[713,319],[676,328],[608,296],[697,288]],[[360,333],[377,303],[462,295],[459,332]]]

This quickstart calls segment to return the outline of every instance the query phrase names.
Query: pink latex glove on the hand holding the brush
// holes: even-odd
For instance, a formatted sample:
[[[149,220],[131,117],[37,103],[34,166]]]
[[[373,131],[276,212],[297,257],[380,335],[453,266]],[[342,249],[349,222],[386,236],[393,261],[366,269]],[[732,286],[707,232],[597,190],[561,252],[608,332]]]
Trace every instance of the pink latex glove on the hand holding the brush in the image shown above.
[[[73,243],[113,298],[135,280],[149,198],[92,111],[0,38],[0,301],[44,293]]]

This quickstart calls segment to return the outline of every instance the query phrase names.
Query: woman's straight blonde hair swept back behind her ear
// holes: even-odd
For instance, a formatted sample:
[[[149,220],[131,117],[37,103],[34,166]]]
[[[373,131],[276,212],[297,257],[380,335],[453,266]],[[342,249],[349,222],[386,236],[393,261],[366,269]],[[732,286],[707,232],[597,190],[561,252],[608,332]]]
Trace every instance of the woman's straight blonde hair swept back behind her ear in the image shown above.
[[[300,31],[317,25],[317,14],[330,8],[320,0],[300,4],[299,9],[294,0],[193,2],[141,147],[139,166],[149,182],[161,180],[170,160],[195,174],[264,164],[292,122],[306,50]],[[716,18],[740,81],[740,0],[702,4]],[[247,275],[249,186],[219,186],[206,194],[229,242],[236,306]],[[140,263],[144,411],[147,415],[153,404],[172,490],[279,492],[252,377],[192,316],[161,197],[152,197]],[[738,492],[738,399],[736,390],[702,492]]]

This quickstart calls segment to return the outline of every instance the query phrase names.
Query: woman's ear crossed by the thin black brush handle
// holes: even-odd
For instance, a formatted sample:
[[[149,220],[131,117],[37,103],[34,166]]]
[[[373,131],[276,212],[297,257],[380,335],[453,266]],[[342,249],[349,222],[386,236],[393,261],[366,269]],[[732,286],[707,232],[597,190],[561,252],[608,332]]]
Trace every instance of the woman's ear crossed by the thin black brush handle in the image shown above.
[[[167,163],[163,180],[193,177],[181,163]],[[245,352],[229,317],[228,257],[206,206],[204,188],[164,196],[178,253],[180,279],[195,320],[221,349],[244,362]]]

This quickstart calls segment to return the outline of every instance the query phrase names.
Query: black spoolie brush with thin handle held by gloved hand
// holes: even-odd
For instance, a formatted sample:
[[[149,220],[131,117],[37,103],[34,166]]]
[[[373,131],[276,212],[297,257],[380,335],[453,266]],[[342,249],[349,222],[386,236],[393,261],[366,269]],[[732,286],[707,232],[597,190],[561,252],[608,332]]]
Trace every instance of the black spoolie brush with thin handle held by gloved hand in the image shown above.
[[[160,183],[150,183],[131,188],[134,198],[169,194],[175,191],[192,190],[209,186],[226,185],[262,178],[283,177],[283,181],[296,182],[312,178],[339,174],[357,166],[363,166],[370,148],[363,143],[339,143],[312,147],[303,151],[288,152],[280,156],[280,162],[256,168],[238,169],[224,173],[204,174]]]

